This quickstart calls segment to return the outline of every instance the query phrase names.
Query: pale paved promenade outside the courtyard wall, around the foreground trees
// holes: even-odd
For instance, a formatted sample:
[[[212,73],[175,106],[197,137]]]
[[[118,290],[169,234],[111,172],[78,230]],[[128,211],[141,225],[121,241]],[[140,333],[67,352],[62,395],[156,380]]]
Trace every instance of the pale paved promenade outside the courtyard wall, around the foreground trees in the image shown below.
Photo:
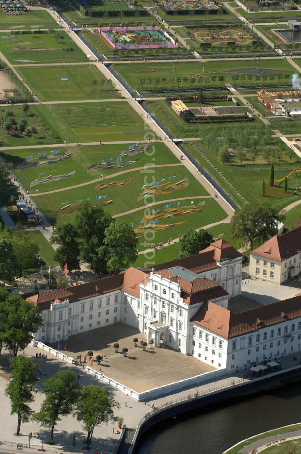
[[[104,384],[103,382],[96,379],[92,375],[84,372],[80,367],[71,365],[70,363],[66,363],[63,360],[60,360],[51,354],[48,354],[47,362],[45,362],[42,358],[41,359],[38,358],[37,360],[35,357],[36,352],[45,354],[45,351],[43,352],[43,350],[39,348],[34,348],[31,345],[29,345],[25,349],[25,355],[33,358],[34,362],[37,363],[37,369],[41,368],[43,370],[43,376],[40,377],[38,381],[38,388],[40,388],[41,384],[43,384],[43,381],[45,380],[44,376],[45,372],[47,374],[46,378],[49,378],[55,372],[57,372],[57,370],[73,370],[76,374],[76,377],[78,374],[80,375],[81,386],[90,384],[105,386],[105,388],[110,392],[110,395],[112,395],[115,398],[115,400],[118,400],[118,402],[121,405],[120,410],[117,410],[115,414],[123,416],[124,423],[127,425],[127,427],[130,428],[137,427],[140,419],[142,419],[143,416],[150,411],[149,406],[152,406],[152,404],[154,404],[155,406],[162,405],[164,403],[170,402],[171,400],[180,399],[186,397],[187,395],[195,394],[197,392],[196,387],[192,389],[185,389],[182,390],[181,392],[177,392],[172,395],[162,396],[157,400],[151,400],[148,402],[148,405],[146,405],[144,402],[138,402],[137,400],[132,399],[128,395],[125,395],[121,391],[116,390],[112,386]],[[7,352],[4,351],[3,353],[7,355]],[[124,360],[124,358],[122,358],[122,360]],[[152,361],[149,360],[149,362],[151,367]],[[210,390],[213,387],[218,387],[221,385],[231,386],[232,380],[238,381],[241,380],[241,378],[242,376],[239,373],[225,375],[212,382],[205,382],[204,384],[200,384],[198,387],[198,392],[201,393],[203,391]],[[0,400],[0,411],[1,414],[3,415],[0,425],[0,440],[28,444],[28,434],[31,431],[33,431],[33,439],[31,440],[32,444],[40,444],[42,440],[44,442],[47,441],[49,437],[48,429],[45,429],[43,427],[40,428],[40,426],[34,422],[24,424],[22,423],[21,433],[24,435],[20,437],[14,435],[17,426],[17,418],[16,415],[13,416],[10,415],[10,401],[9,398],[4,395],[4,389],[6,385],[7,381],[0,379],[0,394],[2,396]],[[40,393],[36,395],[35,402],[31,405],[33,410],[38,410],[39,405],[41,404],[43,398],[44,398],[43,395]],[[125,402],[127,402],[126,407]],[[113,434],[113,427],[115,427],[116,432],[116,424],[109,423],[107,426],[105,426],[105,424],[102,424],[99,428],[96,427],[91,444],[91,449],[94,450],[94,452],[96,451],[96,448],[98,448],[99,453],[101,452],[108,453],[114,450],[114,447],[117,443],[117,440],[119,439],[119,436],[116,433]],[[76,435],[76,446],[74,448],[81,449],[82,447],[81,440],[84,438],[86,434],[86,432],[82,430],[81,423],[77,422],[75,418],[72,418],[72,416],[62,417],[62,421],[59,422],[55,428],[54,441],[58,445],[70,446],[71,448],[72,437],[74,434]],[[3,451],[5,452],[6,446],[0,446],[0,451],[2,450],[2,448]],[[13,452],[14,454],[16,454],[16,450],[14,451],[10,450],[8,452]],[[30,452],[32,452],[32,450],[30,450]]]

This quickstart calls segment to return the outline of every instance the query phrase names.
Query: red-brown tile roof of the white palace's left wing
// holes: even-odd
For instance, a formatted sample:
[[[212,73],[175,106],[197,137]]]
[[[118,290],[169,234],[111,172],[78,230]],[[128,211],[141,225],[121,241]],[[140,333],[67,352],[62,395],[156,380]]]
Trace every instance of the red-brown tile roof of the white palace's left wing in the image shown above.
[[[38,305],[41,311],[43,311],[49,309],[51,303],[54,301],[64,301],[66,298],[69,298],[69,302],[74,303],[75,301],[105,295],[111,291],[121,289],[129,291],[132,295],[139,296],[139,284],[148,277],[148,274],[143,273],[136,268],[129,268],[123,273],[104,277],[103,279],[97,279],[96,281],[86,282],[86,284],[79,286],[69,287],[67,289],[60,288],[29,296],[27,300]]]

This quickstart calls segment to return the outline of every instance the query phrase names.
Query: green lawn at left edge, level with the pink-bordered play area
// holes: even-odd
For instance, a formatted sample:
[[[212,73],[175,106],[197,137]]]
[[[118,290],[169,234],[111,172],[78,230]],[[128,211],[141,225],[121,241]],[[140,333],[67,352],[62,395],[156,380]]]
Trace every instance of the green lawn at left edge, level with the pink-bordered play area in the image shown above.
[[[0,33],[0,51],[11,64],[86,62],[65,31],[30,35]]]

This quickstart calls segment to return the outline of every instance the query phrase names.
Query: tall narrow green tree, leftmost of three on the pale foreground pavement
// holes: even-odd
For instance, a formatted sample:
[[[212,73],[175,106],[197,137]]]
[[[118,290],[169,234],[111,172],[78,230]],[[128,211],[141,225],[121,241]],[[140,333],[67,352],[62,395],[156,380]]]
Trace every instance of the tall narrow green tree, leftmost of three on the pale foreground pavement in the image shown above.
[[[33,410],[29,403],[34,401],[34,385],[38,377],[34,375],[36,368],[33,360],[19,355],[10,360],[12,380],[6,386],[5,395],[10,398],[10,414],[18,415],[17,435],[20,434],[21,422],[29,421]]]

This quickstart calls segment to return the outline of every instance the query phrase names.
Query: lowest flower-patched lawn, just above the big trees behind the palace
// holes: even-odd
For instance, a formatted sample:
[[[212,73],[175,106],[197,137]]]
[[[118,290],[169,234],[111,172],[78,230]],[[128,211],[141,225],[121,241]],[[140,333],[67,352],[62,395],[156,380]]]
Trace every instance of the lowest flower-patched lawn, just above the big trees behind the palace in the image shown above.
[[[172,198],[172,197],[171,197]],[[205,206],[201,207],[200,212],[194,212],[191,214],[185,214],[185,215],[178,215],[174,216],[172,218],[162,218],[158,219],[158,223],[156,224],[156,227],[162,228],[163,226],[167,226],[168,228],[164,230],[155,230],[155,239],[153,240],[153,243],[155,245],[158,242],[166,243],[170,237],[172,238],[177,238],[179,234],[183,235],[186,230],[188,229],[197,229],[199,227],[208,225],[212,222],[217,222],[218,219],[222,220],[227,217],[227,214],[225,211],[218,205],[217,202],[215,202],[214,199],[212,198],[206,198],[206,199],[186,199],[182,201],[176,201],[168,204],[170,207],[175,207],[177,210],[179,209],[184,209],[191,207],[191,202],[194,202],[194,205],[197,205],[200,202],[205,201]],[[186,203],[185,203],[186,202]],[[167,204],[158,204],[156,207],[151,208],[151,211],[154,210],[159,210],[159,213],[163,210],[164,207],[166,207]],[[137,229],[139,228],[139,222],[143,221],[143,216],[144,216],[144,209],[142,208],[141,211],[137,211],[131,214],[128,214],[126,216],[119,217],[118,219],[122,219],[126,222],[133,223],[134,228]],[[147,221],[145,221],[147,222]],[[179,224],[179,225],[177,225]],[[143,231],[138,231],[137,232],[137,238],[138,238],[138,245],[137,249],[139,251],[144,251],[145,249],[148,249],[147,246],[145,246],[145,238],[143,235]]]

